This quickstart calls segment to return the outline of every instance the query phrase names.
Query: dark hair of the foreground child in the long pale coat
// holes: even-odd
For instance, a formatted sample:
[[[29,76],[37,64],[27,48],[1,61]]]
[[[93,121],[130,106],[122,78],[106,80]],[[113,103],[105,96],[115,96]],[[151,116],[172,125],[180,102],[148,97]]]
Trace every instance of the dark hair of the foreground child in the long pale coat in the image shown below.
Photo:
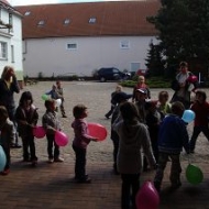
[[[134,121],[139,118],[139,111],[134,103],[125,101],[120,107],[121,116],[124,122]]]

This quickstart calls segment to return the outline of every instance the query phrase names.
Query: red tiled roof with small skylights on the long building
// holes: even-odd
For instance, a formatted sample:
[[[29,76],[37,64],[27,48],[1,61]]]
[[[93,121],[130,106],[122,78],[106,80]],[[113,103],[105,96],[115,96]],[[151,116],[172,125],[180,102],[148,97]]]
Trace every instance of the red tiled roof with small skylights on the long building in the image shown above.
[[[113,1],[14,7],[23,15],[23,38],[100,35],[155,35],[146,16],[161,8],[153,1]],[[96,23],[89,24],[89,19]],[[64,25],[66,19],[70,23]],[[43,20],[45,24],[37,26]]]

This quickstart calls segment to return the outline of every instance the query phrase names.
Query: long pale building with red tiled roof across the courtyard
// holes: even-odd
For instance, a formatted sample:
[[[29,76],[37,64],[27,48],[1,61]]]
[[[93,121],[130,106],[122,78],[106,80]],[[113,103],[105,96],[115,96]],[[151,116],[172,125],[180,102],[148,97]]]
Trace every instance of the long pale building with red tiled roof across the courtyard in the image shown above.
[[[91,75],[100,67],[145,68],[157,31],[146,21],[158,0],[21,6],[24,72]],[[134,69],[136,70],[136,69]]]

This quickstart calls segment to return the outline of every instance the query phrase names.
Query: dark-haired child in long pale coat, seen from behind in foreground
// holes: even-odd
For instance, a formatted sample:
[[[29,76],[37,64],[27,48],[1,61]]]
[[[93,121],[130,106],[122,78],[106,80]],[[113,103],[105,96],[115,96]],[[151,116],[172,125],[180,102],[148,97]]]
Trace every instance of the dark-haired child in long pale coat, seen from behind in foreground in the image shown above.
[[[148,163],[155,167],[155,160],[151,148],[147,128],[139,122],[139,113],[134,103],[124,102],[120,107],[122,120],[113,123],[113,129],[119,134],[119,153],[117,158],[118,169],[122,178],[121,209],[130,208],[130,200],[135,207],[135,196],[140,188],[140,173],[142,169],[142,152]]]

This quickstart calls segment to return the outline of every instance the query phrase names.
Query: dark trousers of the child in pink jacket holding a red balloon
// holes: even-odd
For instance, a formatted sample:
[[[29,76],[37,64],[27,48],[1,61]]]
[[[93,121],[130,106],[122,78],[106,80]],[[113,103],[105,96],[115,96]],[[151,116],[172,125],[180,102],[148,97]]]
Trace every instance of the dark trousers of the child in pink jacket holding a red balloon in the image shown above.
[[[73,144],[73,150],[76,154],[75,163],[75,178],[85,179],[86,178],[86,148],[77,147]]]

